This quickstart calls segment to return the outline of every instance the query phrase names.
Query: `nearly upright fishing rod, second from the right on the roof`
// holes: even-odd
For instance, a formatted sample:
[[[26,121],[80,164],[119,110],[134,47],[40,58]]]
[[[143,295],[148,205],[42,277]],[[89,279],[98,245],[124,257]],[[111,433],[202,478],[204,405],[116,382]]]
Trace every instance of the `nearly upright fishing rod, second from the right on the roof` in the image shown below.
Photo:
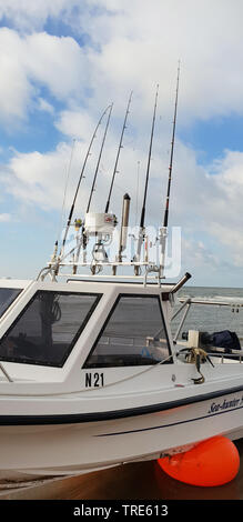
[[[154,101],[154,109],[153,109],[152,130],[151,130],[151,137],[150,137],[150,149],[149,149],[149,158],[148,158],[148,165],[146,165],[146,178],[145,178],[145,187],[144,187],[144,194],[143,194],[143,205],[142,205],[141,218],[140,218],[140,232],[139,232],[138,249],[136,249],[136,254],[134,255],[134,261],[140,261],[141,249],[142,249],[142,244],[144,241],[146,194],[148,194],[148,184],[149,184],[149,177],[150,177],[150,163],[151,163],[151,154],[152,154],[154,124],[155,124],[155,117],[156,117],[158,93],[159,93],[159,84],[156,86],[156,93],[155,93],[155,101]],[[138,275],[139,267],[135,267],[134,270],[135,270],[135,274]]]

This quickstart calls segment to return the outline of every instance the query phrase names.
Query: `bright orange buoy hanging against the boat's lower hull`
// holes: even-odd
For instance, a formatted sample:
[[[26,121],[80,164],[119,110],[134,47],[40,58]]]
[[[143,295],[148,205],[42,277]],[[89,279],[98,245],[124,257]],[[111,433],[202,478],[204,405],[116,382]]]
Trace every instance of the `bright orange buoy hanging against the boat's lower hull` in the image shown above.
[[[240,468],[235,444],[225,436],[213,436],[192,450],[164,459],[160,466],[173,479],[191,485],[214,486],[233,480]]]

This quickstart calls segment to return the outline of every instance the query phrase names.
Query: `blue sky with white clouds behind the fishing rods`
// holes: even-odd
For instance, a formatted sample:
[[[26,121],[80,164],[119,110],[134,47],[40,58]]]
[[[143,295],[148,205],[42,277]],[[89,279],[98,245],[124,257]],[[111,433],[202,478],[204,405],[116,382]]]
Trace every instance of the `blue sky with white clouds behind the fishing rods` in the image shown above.
[[[0,275],[34,277],[45,265],[113,102],[93,199],[103,209],[131,91],[111,210],[129,191],[135,224],[158,83],[146,220],[160,223],[180,59],[170,225],[182,228],[182,272],[193,284],[243,287],[242,19],[242,0],[1,0]]]

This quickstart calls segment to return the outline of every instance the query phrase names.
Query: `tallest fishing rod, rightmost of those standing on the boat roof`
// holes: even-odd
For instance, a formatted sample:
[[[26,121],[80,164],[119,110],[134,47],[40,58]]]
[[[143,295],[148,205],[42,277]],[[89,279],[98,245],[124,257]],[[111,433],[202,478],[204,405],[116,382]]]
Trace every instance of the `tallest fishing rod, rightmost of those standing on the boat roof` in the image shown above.
[[[165,199],[163,227],[160,231],[161,232],[160,233],[160,243],[161,243],[160,278],[164,277],[164,261],[165,261],[165,247],[166,247],[166,237],[168,237],[169,205],[170,205],[172,167],[173,167],[173,155],[174,155],[175,127],[176,127],[176,117],[178,117],[179,81],[180,81],[180,61],[179,61],[179,66],[178,66],[178,79],[176,79],[175,102],[174,102],[174,119],[173,119],[173,128],[172,128],[171,155],[170,155],[169,177],[168,177],[168,192],[166,192],[166,199]]]

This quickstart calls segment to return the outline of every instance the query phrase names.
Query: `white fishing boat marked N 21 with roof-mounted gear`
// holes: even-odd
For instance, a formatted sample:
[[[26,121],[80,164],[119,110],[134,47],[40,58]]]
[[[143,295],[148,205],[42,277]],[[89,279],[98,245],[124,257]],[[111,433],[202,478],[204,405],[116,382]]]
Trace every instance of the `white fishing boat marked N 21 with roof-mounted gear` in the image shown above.
[[[174,127],[175,118],[173,137]],[[152,134],[153,127],[151,144]],[[145,187],[148,180],[149,165]],[[0,281],[1,479],[88,473],[185,451],[216,434],[243,435],[242,351],[233,363],[225,351],[222,364],[199,344],[175,343],[174,299],[190,275],[164,282],[169,204],[156,265],[145,245],[144,204],[136,253],[123,260],[129,201],[115,261],[105,252],[117,225],[108,204],[103,214],[75,221],[72,261],[65,233],[36,280]],[[67,230],[72,224],[71,212]],[[80,275],[92,239],[91,273]],[[121,267],[133,271],[131,279],[119,277]]]

